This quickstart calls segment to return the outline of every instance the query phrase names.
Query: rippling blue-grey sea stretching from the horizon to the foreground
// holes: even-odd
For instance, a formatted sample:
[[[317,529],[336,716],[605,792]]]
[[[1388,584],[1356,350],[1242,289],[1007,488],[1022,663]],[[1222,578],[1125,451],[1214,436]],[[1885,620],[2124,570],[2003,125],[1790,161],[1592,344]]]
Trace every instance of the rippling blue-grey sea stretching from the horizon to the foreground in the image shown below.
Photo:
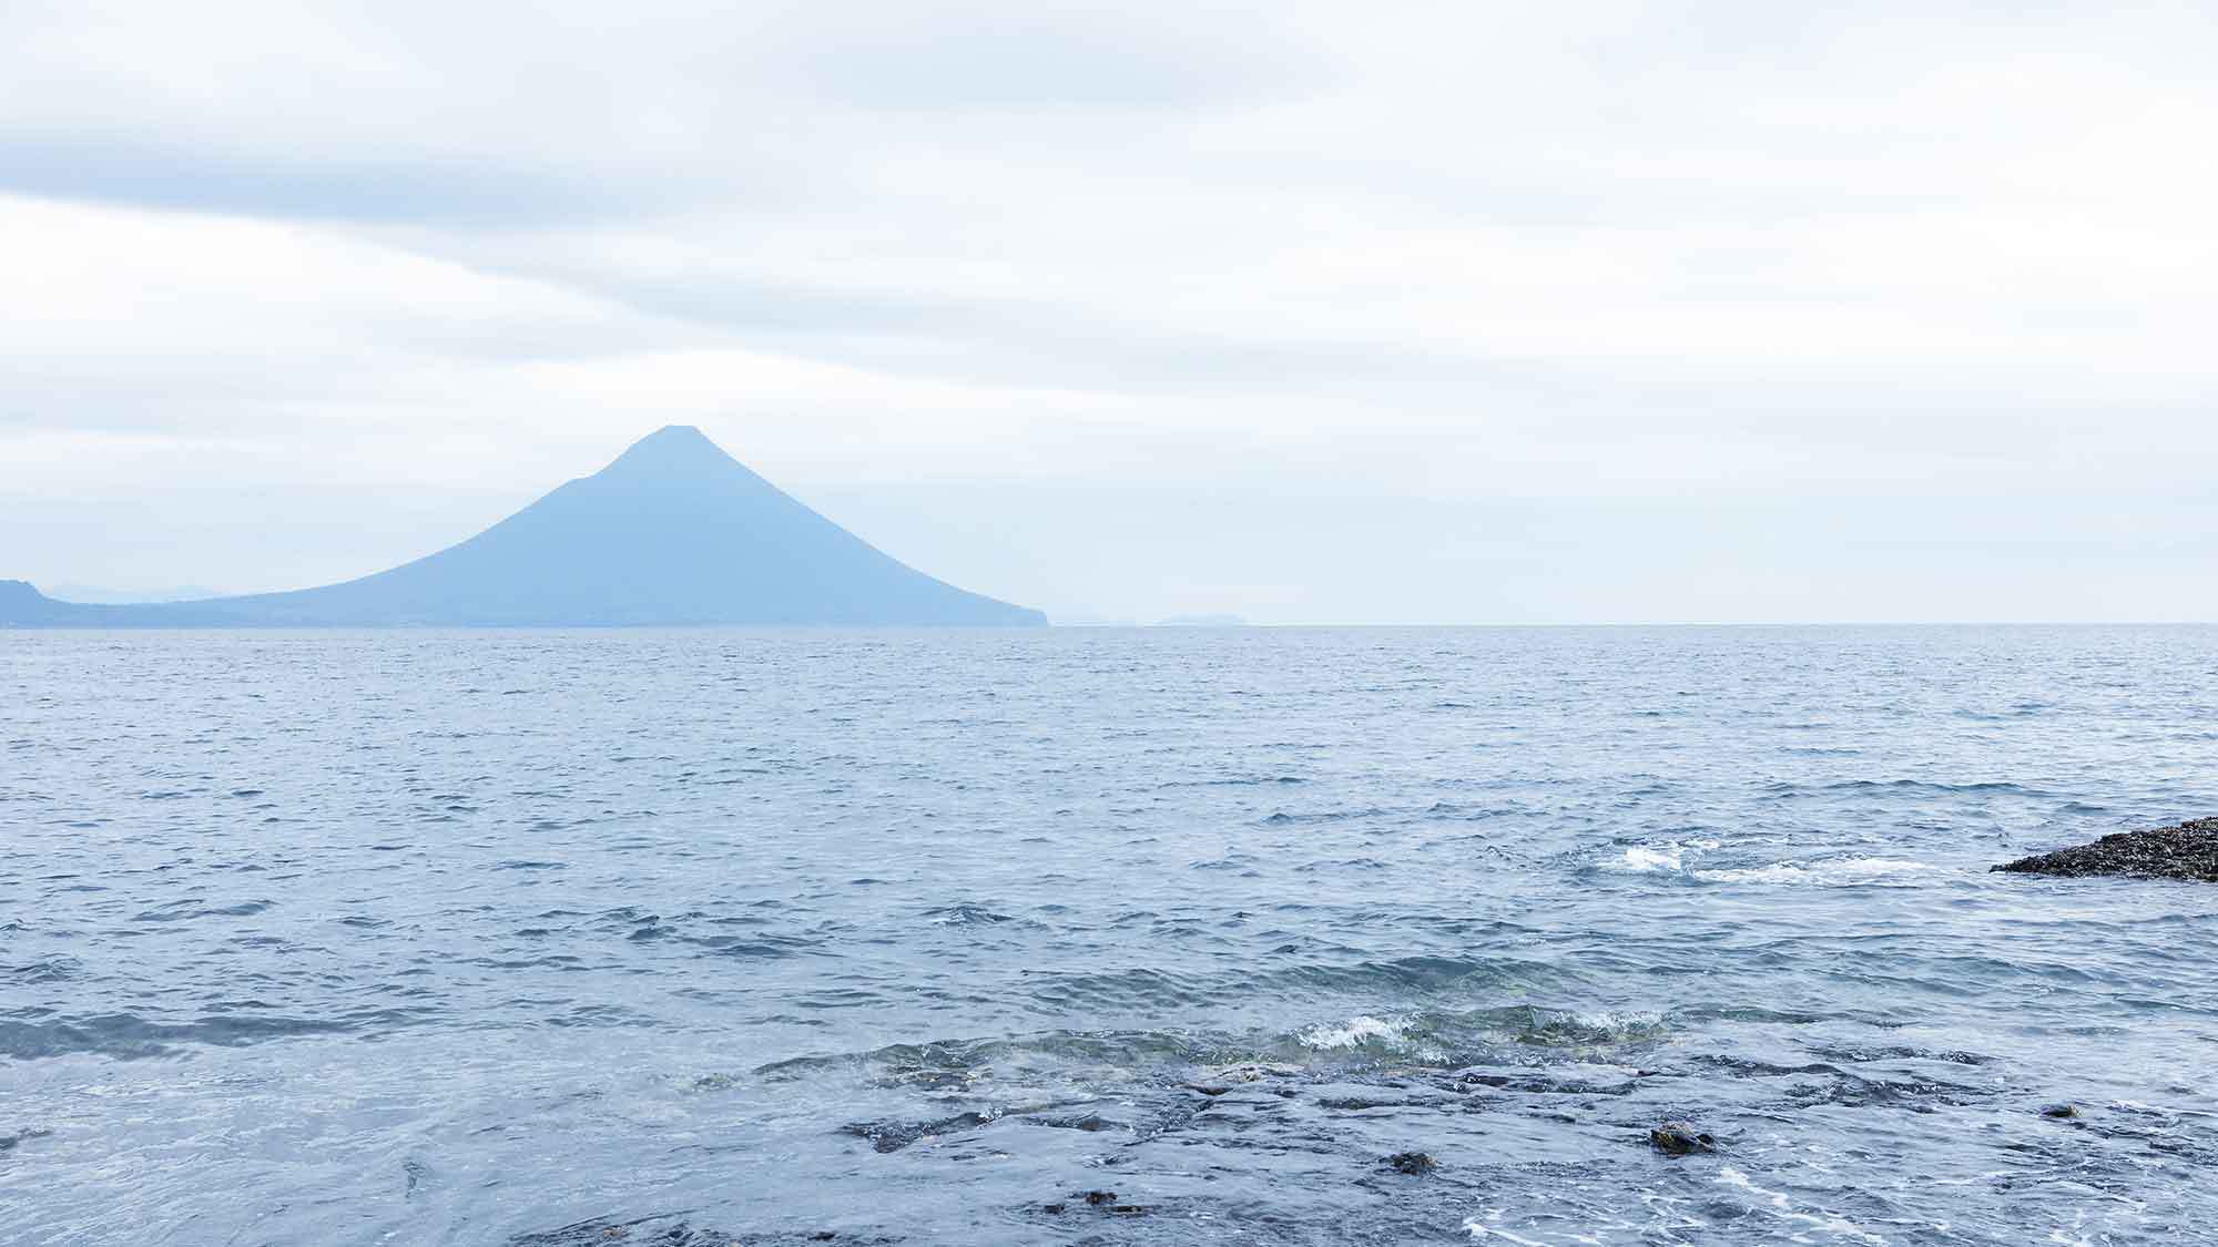
[[[2214,812],[2214,628],[0,635],[0,1243],[2211,1240],[2218,890],[1985,868]]]

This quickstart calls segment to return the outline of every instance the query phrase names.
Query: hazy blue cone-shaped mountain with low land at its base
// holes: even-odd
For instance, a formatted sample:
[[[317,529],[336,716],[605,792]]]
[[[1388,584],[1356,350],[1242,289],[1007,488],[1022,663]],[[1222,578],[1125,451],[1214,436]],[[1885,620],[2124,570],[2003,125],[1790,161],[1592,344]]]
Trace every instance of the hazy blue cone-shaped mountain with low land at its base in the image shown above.
[[[162,604],[0,581],[0,628],[1045,626],[816,515],[699,428],[670,426],[492,528],[344,584]]]

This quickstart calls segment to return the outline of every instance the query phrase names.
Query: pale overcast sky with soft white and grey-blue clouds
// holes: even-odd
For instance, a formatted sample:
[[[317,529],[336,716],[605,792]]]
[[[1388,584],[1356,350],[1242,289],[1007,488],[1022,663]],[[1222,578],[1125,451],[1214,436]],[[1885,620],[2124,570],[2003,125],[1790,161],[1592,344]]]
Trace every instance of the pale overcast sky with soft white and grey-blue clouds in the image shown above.
[[[2202,0],[4,22],[0,577],[699,424],[1062,621],[2218,617]]]

